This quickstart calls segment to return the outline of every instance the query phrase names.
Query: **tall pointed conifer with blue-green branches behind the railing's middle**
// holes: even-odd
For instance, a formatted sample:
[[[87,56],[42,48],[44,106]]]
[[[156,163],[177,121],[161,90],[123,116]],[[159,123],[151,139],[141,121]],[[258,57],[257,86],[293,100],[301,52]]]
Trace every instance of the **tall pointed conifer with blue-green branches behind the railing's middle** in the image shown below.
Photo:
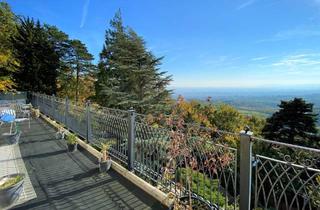
[[[155,57],[142,37],[123,26],[120,12],[110,25],[100,53],[97,101],[108,107],[134,107],[142,113],[163,109],[170,97],[171,76],[159,70],[162,57]]]

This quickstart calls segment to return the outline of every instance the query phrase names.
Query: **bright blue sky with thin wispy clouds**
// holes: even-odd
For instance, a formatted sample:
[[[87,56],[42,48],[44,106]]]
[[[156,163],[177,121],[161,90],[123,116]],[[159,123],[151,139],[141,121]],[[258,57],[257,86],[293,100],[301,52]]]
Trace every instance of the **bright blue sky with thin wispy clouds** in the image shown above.
[[[165,56],[173,87],[320,85],[320,0],[9,0],[13,11],[56,25],[98,61],[109,20]]]

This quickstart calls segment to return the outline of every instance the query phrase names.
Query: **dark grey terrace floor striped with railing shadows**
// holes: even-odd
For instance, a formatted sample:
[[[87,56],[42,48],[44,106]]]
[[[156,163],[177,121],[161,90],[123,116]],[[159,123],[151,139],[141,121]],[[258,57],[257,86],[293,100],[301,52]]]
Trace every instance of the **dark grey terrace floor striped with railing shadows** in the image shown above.
[[[33,119],[30,129],[27,122],[19,125],[20,152],[37,198],[14,209],[165,209],[115,171],[98,173],[97,160],[85,151],[68,153],[43,120]]]

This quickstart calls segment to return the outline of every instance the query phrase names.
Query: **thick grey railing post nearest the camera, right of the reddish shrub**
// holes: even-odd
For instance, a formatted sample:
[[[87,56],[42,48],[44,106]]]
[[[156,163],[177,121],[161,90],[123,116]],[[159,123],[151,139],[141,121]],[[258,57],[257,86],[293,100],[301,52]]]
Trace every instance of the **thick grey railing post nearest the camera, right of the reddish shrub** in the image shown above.
[[[252,132],[240,132],[240,210],[249,210],[252,181]]]

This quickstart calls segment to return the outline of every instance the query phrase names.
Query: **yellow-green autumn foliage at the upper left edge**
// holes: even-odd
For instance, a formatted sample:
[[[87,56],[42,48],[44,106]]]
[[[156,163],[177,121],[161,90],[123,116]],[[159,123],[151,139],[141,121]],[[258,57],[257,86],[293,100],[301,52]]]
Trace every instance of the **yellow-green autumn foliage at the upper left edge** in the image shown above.
[[[11,43],[17,33],[17,21],[10,6],[0,2],[0,92],[9,91],[15,87],[12,73],[19,66]]]

